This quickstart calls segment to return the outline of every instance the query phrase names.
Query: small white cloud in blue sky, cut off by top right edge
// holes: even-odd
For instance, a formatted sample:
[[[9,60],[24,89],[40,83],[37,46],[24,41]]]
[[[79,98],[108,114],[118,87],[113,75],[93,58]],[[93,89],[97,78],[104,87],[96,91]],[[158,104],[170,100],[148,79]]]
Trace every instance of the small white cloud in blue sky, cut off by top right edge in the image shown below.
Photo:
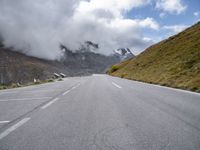
[[[187,6],[181,0],[157,0],[156,8],[170,14],[181,14]]]

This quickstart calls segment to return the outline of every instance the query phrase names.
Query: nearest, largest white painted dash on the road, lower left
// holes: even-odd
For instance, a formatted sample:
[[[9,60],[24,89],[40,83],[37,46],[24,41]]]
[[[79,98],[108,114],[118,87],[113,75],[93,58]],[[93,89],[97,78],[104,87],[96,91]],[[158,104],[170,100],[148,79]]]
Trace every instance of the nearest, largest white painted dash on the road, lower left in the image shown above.
[[[24,118],[21,121],[19,121],[18,123],[16,123],[15,125],[11,126],[10,128],[8,128],[7,130],[5,130],[4,132],[2,132],[0,134],[0,140],[3,139],[4,137],[6,137],[8,134],[10,134],[11,132],[13,132],[14,130],[16,130],[17,128],[19,128],[20,126],[22,126],[23,124],[25,124],[27,121],[29,121],[31,118]]]

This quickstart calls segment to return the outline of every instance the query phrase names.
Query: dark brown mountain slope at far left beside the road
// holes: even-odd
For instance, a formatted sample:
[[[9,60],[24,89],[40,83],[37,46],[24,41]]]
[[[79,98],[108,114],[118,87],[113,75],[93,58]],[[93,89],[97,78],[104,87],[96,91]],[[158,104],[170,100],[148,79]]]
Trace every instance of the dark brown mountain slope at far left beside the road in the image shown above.
[[[34,78],[44,80],[52,77],[54,72],[65,72],[65,66],[0,47],[0,84],[23,84]]]

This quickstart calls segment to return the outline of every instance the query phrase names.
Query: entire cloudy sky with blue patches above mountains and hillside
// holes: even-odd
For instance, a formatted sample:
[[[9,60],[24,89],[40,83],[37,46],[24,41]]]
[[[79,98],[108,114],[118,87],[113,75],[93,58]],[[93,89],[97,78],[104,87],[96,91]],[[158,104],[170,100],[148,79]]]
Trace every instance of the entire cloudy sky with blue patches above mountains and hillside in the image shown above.
[[[103,54],[139,54],[199,19],[199,0],[0,0],[4,44],[45,59],[62,56],[60,43],[76,50],[85,41]]]

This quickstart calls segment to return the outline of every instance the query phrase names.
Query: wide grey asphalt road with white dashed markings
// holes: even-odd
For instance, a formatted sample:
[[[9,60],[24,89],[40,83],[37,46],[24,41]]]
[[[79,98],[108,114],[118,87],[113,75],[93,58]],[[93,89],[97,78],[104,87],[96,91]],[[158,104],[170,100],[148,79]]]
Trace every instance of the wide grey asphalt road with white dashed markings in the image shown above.
[[[0,91],[0,150],[200,150],[200,94],[107,75]]]

